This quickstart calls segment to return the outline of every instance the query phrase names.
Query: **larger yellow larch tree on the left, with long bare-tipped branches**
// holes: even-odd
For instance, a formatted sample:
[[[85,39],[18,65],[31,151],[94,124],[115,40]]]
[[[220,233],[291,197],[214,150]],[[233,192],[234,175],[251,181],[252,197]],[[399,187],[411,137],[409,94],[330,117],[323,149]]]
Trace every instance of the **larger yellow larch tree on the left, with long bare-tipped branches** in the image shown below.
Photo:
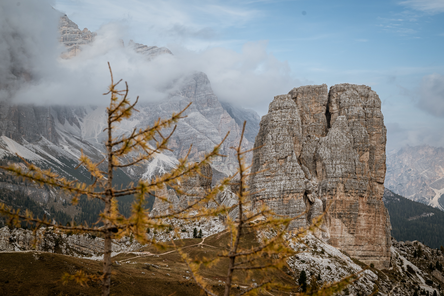
[[[183,209],[178,211],[170,211],[167,214],[160,214],[158,216],[150,216],[149,211],[145,209],[147,197],[149,194],[153,194],[158,189],[163,188],[164,185],[168,185],[174,188],[179,194],[186,194],[180,189],[180,180],[193,176],[194,174],[200,174],[201,166],[209,163],[211,158],[215,156],[223,156],[219,154],[219,148],[225,138],[214,147],[212,151],[207,153],[200,162],[188,163],[187,157],[178,160],[176,168],[173,168],[169,173],[157,176],[152,180],[139,180],[136,184],[131,183],[124,189],[118,189],[117,185],[113,183],[114,171],[118,168],[124,168],[129,166],[138,166],[143,162],[151,161],[156,154],[168,150],[167,144],[173,131],[170,134],[164,135],[163,129],[172,126],[180,118],[183,118],[183,112],[190,106],[190,104],[177,114],[172,114],[168,119],[158,119],[152,126],[146,128],[132,130],[131,133],[125,134],[121,137],[115,137],[113,132],[118,127],[119,122],[124,119],[130,118],[135,109],[139,97],[134,103],[131,103],[128,98],[128,84],[125,82],[125,88],[119,90],[118,84],[122,81],[114,82],[111,66],[108,63],[109,71],[111,74],[111,84],[107,93],[103,95],[110,95],[110,105],[107,107],[107,127],[104,131],[107,131],[107,140],[105,142],[106,154],[100,162],[93,162],[90,158],[82,153],[79,158],[79,166],[84,166],[91,174],[92,184],[79,182],[78,180],[68,180],[67,178],[61,178],[59,175],[53,173],[51,169],[42,170],[38,166],[27,162],[22,158],[26,164],[26,169],[22,169],[20,166],[11,164],[9,166],[1,166],[2,169],[8,170],[16,176],[25,178],[29,182],[34,182],[38,185],[47,185],[55,189],[61,189],[68,194],[71,194],[71,203],[76,205],[81,195],[86,195],[90,199],[99,199],[104,202],[105,209],[103,213],[100,213],[99,220],[103,222],[103,227],[90,226],[90,225],[61,225],[52,223],[51,219],[44,217],[39,219],[34,217],[32,212],[28,210],[26,213],[20,213],[20,210],[14,211],[12,208],[8,208],[5,204],[0,204],[0,213],[8,216],[8,223],[10,225],[19,226],[22,221],[28,222],[29,225],[34,225],[34,231],[40,228],[40,226],[50,226],[55,229],[67,230],[74,233],[87,233],[87,232],[99,232],[103,234],[104,238],[104,252],[103,252],[103,274],[101,276],[87,275],[82,271],[77,272],[75,275],[66,274],[64,280],[76,280],[79,284],[86,284],[89,280],[101,280],[102,281],[102,296],[108,296],[110,293],[111,282],[111,242],[113,239],[119,239],[124,235],[134,235],[135,239],[140,244],[153,243],[160,245],[161,243],[151,241],[146,235],[147,228],[163,228],[160,221],[170,217],[186,217],[190,210],[198,208],[198,202],[205,202],[214,197],[214,195],[222,188],[225,183],[220,186],[214,187],[214,189],[203,197],[201,200],[197,200],[190,203]],[[154,145],[153,145],[154,143]],[[18,155],[17,155],[18,156]],[[187,155],[188,156],[188,155]],[[123,162],[125,157],[130,158],[130,161]],[[78,166],[78,167],[79,167]],[[106,167],[105,170],[102,170]],[[119,213],[117,197],[123,197],[127,195],[134,195],[134,202],[132,204],[132,210],[130,217],[125,217]],[[165,201],[166,197],[159,196],[158,198]],[[216,210],[207,211],[206,214],[217,214]],[[35,244],[37,241],[35,241]]]

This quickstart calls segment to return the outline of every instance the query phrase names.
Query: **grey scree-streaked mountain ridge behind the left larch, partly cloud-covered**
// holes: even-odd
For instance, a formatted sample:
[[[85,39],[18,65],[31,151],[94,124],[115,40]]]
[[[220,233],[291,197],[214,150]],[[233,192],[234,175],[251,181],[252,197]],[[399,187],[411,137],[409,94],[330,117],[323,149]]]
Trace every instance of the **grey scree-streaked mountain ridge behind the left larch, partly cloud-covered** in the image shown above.
[[[66,47],[66,52],[62,54],[65,59],[75,57],[83,46],[93,43],[97,35],[87,28],[80,30],[66,15],[60,18],[59,33],[60,42]],[[127,46],[134,47],[140,59],[172,54],[166,47],[147,46],[132,40]],[[14,77],[10,79],[11,83],[16,80]],[[136,112],[130,120],[123,121],[117,134],[123,135],[136,126],[151,125],[158,118],[169,118],[189,102],[193,104],[185,112],[187,117],[179,120],[170,141],[170,148],[174,151],[159,154],[151,163],[135,170],[125,169],[122,174],[126,176],[122,175],[122,182],[151,178],[170,169],[178,158],[185,157],[190,144],[193,144],[190,161],[198,161],[205,152],[221,142],[228,131],[230,135],[221,147],[221,153],[228,157],[214,159],[212,167],[217,178],[236,172],[237,164],[230,146],[236,146],[239,142],[243,121],[247,120],[243,143],[244,148],[252,148],[260,117],[252,110],[227,103],[222,107],[211,89],[210,80],[199,71],[184,77],[182,87],[168,98],[139,104],[140,112]],[[40,166],[54,167],[63,176],[79,178],[79,173],[73,172],[71,166],[78,162],[81,150],[95,161],[103,159],[104,124],[105,106],[33,106],[0,102],[0,157],[17,153]],[[251,155],[246,155],[247,162],[251,161]]]

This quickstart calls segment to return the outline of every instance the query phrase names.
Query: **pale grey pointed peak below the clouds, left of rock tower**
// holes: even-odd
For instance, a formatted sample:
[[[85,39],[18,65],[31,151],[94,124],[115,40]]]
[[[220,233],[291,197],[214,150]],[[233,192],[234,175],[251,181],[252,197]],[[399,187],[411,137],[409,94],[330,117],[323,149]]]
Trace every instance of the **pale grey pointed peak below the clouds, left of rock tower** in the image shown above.
[[[220,153],[227,157],[217,157],[212,160],[211,166],[228,176],[235,174],[237,170],[237,159],[235,152],[230,149],[231,146],[237,146],[242,132],[242,126],[236,123],[236,120],[224,110],[217,96],[211,89],[210,80],[205,73],[195,72],[185,81],[182,88],[172,94],[170,98],[156,103],[140,104],[133,121],[128,125],[137,123],[137,126],[151,125],[156,119],[169,118],[173,112],[179,112],[193,102],[184,112],[186,118],[177,122],[176,130],[170,138],[169,148],[173,151],[165,151],[165,154],[173,159],[184,158],[188,153],[190,145],[193,147],[190,151],[190,161],[199,161],[205,153],[211,151],[214,146],[222,141],[226,133],[230,134],[222,144]],[[123,124],[127,124],[123,122]],[[129,127],[132,129],[133,126]],[[166,133],[172,129],[166,129]],[[100,130],[101,132],[101,130]],[[104,133],[97,135],[85,135],[88,138],[101,140]],[[245,136],[243,148],[250,149],[253,143],[249,142]],[[246,155],[246,161],[250,162],[252,153]],[[156,171],[147,171],[144,176],[151,178]]]

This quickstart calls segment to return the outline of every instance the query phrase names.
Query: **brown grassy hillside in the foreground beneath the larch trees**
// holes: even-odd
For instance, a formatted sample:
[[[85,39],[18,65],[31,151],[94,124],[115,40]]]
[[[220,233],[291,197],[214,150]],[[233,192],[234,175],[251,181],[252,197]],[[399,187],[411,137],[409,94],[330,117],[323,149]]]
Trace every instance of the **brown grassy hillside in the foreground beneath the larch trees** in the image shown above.
[[[192,258],[210,257],[210,253],[219,252],[225,247],[229,237],[227,233],[218,233],[207,237],[203,245],[198,245],[202,239],[185,239],[175,241],[186,247],[184,252]],[[247,234],[242,239],[242,245],[257,245],[254,234]],[[143,251],[152,254],[162,254],[173,250],[158,251],[153,247],[145,247]],[[137,257],[142,256],[142,257]],[[174,292],[175,296],[198,296],[200,289],[190,279],[186,265],[182,262],[178,252],[165,255],[147,256],[146,253],[120,253],[112,259],[111,295],[149,295],[168,296]],[[122,261],[120,265],[115,261]],[[126,263],[130,261],[130,263]],[[70,257],[62,254],[44,252],[2,252],[0,253],[0,295],[100,295],[101,285],[89,282],[89,287],[81,287],[75,282],[63,285],[60,282],[65,272],[71,274],[79,269],[87,273],[100,273],[102,262],[84,258]],[[135,262],[133,264],[133,262]],[[147,265],[147,264],[150,265]],[[226,278],[228,262],[220,260],[213,268],[205,268],[202,272],[212,285],[214,291],[221,294],[223,286],[219,286]],[[202,267],[203,268],[203,267]],[[269,273],[277,281],[289,283],[291,278],[284,272]],[[260,280],[260,272],[254,271],[250,280],[246,280],[246,273],[238,271],[234,284],[249,286],[252,279]],[[293,280],[294,283],[294,280]],[[220,283],[222,284],[222,283]],[[242,292],[242,287],[233,286],[233,294]],[[60,294],[61,293],[61,294]],[[274,296],[288,296],[288,293],[275,291]]]

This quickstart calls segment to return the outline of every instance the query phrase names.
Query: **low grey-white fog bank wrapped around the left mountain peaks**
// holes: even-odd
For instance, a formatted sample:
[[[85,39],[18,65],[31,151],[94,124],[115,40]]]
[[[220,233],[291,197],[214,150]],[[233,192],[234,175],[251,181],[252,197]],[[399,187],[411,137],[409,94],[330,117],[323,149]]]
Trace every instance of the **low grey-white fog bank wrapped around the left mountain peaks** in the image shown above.
[[[139,95],[142,102],[165,99],[191,72],[202,71],[219,100],[247,108],[262,106],[264,110],[255,109],[263,115],[274,95],[301,85],[292,78],[286,62],[267,52],[266,41],[245,43],[241,52],[224,47],[192,51],[178,42],[168,46],[173,55],[149,60],[127,46],[127,28],[119,22],[102,25],[93,42],[75,57],[63,59],[66,48],[58,41],[62,15],[44,1],[0,4],[1,100],[106,104],[108,98],[102,94],[110,83],[107,62],[116,79],[128,82],[131,97]],[[124,47],[119,39],[124,40]]]

